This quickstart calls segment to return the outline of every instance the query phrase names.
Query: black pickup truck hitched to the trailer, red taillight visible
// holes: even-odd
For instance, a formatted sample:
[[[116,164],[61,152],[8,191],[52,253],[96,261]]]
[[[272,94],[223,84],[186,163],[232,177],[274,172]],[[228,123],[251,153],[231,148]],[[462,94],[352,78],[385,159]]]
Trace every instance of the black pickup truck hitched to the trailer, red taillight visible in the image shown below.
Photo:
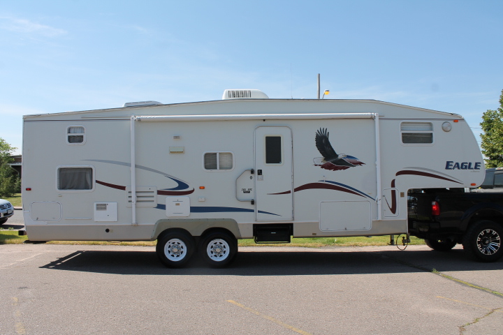
[[[481,262],[503,256],[503,168],[486,170],[480,188],[409,190],[409,234],[436,251],[462,244]]]

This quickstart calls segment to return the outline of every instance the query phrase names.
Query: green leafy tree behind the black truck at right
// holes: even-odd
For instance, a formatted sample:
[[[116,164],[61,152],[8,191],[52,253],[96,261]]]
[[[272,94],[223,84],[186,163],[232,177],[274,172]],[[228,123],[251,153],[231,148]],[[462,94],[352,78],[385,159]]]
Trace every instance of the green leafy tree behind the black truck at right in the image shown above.
[[[486,168],[503,166],[503,90],[500,107],[482,115],[482,154],[486,156]]]

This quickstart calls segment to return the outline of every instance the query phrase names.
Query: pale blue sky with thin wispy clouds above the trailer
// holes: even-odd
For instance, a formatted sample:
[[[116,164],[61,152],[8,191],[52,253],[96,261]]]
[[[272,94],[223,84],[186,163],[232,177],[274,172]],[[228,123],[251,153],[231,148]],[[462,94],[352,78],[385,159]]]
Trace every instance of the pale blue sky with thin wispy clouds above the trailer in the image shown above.
[[[22,115],[218,100],[377,99],[461,114],[503,89],[503,1],[0,0],[0,137]],[[20,153],[20,149],[17,150]]]

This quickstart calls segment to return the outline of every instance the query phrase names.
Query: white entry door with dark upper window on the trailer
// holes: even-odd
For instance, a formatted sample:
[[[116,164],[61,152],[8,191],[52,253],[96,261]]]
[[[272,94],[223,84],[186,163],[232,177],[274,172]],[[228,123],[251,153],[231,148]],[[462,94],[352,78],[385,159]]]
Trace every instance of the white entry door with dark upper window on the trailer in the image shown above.
[[[293,220],[292,134],[289,127],[255,130],[257,221]]]

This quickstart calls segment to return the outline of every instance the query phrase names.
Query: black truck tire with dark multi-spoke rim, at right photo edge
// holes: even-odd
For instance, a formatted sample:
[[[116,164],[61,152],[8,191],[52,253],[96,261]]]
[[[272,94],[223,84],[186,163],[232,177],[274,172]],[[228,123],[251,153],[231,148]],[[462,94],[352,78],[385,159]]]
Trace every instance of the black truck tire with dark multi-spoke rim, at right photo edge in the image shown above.
[[[463,238],[463,248],[479,262],[495,262],[503,256],[503,227],[493,221],[478,221]]]

